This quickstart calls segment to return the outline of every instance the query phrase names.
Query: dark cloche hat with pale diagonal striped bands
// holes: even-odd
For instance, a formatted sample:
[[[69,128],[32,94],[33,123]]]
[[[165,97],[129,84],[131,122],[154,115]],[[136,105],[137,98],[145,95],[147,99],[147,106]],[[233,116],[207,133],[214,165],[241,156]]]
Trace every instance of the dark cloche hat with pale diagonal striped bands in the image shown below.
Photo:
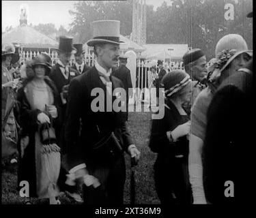
[[[161,87],[165,88],[165,97],[171,97],[191,82],[190,76],[184,70],[176,69],[162,78]]]

